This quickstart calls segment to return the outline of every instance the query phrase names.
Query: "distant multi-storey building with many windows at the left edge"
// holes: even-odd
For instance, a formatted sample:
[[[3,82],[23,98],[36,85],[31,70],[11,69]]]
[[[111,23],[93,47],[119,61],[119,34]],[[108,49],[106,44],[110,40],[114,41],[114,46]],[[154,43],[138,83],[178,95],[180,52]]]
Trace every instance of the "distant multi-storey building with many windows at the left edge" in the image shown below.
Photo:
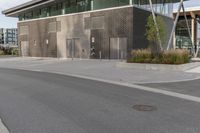
[[[17,45],[17,38],[17,28],[0,28],[1,45]]]

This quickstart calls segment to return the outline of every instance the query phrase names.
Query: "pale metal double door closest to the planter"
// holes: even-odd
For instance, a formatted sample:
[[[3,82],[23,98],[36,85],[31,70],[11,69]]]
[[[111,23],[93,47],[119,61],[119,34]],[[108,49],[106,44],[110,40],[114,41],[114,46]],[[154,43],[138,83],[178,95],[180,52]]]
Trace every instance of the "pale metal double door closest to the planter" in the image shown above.
[[[126,59],[127,38],[110,38],[110,59]]]

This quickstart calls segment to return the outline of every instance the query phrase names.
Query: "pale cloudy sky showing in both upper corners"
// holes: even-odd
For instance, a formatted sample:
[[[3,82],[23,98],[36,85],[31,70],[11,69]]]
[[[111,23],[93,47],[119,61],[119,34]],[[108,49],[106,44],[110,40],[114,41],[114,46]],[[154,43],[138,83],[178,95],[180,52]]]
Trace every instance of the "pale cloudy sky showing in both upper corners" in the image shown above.
[[[25,3],[30,0],[0,0],[0,28],[16,28],[17,18],[5,17],[1,12],[5,9]],[[186,7],[200,6],[200,0],[189,0],[185,2]]]

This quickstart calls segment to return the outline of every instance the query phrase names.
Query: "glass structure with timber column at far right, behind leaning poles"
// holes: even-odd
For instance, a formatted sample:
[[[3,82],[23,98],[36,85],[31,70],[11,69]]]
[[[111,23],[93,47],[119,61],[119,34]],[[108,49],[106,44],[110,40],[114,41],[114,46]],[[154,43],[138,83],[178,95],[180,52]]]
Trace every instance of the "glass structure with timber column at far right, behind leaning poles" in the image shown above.
[[[200,6],[187,7],[185,13],[187,21],[183,12],[179,15],[175,32],[175,47],[192,49],[192,45],[194,45],[197,50],[197,47],[200,46]],[[176,14],[177,11],[174,11],[174,15]]]

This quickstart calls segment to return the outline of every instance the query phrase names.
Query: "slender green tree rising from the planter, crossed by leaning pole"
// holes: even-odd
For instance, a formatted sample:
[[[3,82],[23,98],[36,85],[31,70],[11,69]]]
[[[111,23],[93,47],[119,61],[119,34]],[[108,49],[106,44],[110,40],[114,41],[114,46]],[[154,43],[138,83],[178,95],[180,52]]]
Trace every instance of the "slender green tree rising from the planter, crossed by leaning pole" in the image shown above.
[[[159,35],[160,35],[160,40],[161,40],[161,45],[166,43],[166,26],[165,22],[162,17],[156,16],[156,21],[158,25],[158,30],[159,30]],[[149,46],[154,52],[161,52],[160,51],[160,46],[159,46],[159,38],[157,36],[157,29],[156,25],[153,20],[153,16],[150,15],[147,18],[147,24],[146,24],[146,37],[147,40],[149,41]]]

